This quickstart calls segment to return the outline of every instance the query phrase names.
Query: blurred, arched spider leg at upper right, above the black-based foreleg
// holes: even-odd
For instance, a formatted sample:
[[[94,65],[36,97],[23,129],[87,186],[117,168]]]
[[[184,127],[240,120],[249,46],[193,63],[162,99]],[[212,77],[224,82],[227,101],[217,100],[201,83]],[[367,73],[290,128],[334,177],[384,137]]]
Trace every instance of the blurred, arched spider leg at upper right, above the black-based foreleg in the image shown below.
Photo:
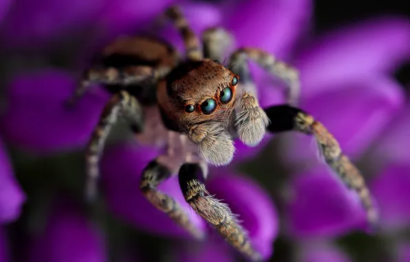
[[[299,73],[296,69],[288,66],[286,63],[275,59],[272,54],[258,48],[240,48],[230,57],[230,66],[233,72],[239,74],[242,81],[248,81],[249,68],[246,63],[251,59],[259,64],[263,69],[284,81],[288,86],[287,102],[290,105],[297,105],[299,101],[300,83]],[[242,76],[246,76],[246,79]]]

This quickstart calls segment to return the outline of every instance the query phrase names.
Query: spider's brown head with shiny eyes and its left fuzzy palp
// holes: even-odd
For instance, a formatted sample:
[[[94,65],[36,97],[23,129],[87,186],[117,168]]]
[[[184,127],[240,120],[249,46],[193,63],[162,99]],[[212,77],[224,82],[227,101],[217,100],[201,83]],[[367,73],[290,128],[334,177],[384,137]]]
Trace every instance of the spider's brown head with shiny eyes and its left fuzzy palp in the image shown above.
[[[226,128],[238,81],[236,74],[208,59],[184,63],[167,79],[166,92],[178,125],[214,165],[227,164],[233,158],[235,148]]]

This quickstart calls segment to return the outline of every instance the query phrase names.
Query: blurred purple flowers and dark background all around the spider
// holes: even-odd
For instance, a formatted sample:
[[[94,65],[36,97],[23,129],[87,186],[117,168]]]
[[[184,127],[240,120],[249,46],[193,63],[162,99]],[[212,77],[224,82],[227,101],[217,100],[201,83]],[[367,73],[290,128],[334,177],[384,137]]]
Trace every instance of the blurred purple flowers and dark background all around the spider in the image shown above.
[[[193,212],[204,243],[143,199],[140,171],[160,150],[138,145],[125,123],[109,137],[100,199],[83,200],[83,149],[108,94],[95,88],[74,110],[63,103],[121,34],[159,34],[182,50],[171,26],[154,23],[171,3],[197,34],[224,26],[236,46],[298,68],[301,108],[334,133],[380,208],[380,231],[368,234],[356,196],[324,168],[312,138],[238,143],[207,188],[265,259],[410,261],[410,7],[398,0],[1,0],[0,261],[242,261]],[[281,85],[252,70],[261,105],[283,103]],[[178,187],[171,179],[162,190],[182,201]]]

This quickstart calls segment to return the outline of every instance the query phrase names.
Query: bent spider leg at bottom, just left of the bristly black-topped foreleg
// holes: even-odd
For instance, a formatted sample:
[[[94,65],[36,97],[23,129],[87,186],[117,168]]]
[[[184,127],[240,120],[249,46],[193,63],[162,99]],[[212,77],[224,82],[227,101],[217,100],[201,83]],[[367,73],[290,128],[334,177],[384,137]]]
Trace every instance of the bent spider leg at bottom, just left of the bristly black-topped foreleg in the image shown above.
[[[175,174],[180,166],[181,155],[175,152],[175,132],[169,132],[169,148],[167,154],[151,161],[142,171],[140,189],[142,194],[155,208],[168,214],[175,223],[189,232],[195,239],[204,239],[204,233],[195,226],[188,214],[171,196],[158,190],[158,185]]]

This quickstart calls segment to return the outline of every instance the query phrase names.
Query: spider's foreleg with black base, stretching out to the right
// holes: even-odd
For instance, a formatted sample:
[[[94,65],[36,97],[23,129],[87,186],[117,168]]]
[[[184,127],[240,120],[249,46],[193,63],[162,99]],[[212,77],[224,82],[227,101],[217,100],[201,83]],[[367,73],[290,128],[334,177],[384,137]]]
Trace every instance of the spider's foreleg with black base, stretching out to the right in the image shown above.
[[[265,110],[270,118],[268,130],[272,133],[284,131],[298,131],[313,135],[316,138],[319,150],[327,165],[342,179],[348,188],[354,190],[367,212],[367,221],[377,228],[378,211],[372,200],[365,179],[356,166],[343,154],[338,141],[325,128],[316,121],[312,115],[290,105],[276,105]]]

